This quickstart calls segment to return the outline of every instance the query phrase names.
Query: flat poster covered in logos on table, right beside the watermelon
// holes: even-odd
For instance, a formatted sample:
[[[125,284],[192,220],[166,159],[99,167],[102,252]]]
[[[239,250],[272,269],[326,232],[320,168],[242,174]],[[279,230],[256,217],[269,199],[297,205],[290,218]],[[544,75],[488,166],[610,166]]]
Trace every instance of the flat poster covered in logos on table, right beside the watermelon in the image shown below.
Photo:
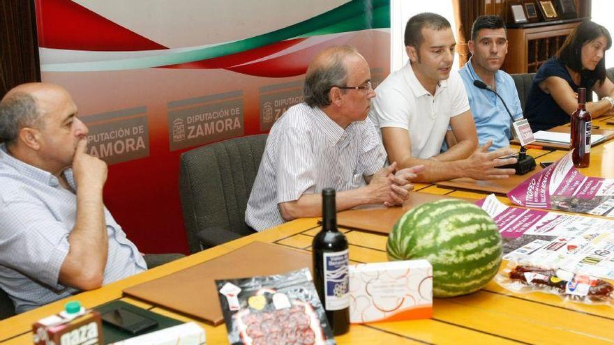
[[[503,259],[614,279],[614,222],[502,204],[494,194],[476,203],[493,217]]]

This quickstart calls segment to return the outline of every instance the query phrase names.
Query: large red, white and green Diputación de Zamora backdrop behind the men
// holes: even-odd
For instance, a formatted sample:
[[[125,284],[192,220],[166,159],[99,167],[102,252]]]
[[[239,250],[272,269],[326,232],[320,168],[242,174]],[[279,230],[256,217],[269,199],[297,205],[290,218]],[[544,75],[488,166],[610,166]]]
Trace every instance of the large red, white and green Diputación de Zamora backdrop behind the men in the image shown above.
[[[390,0],[36,0],[43,82],[109,164],[105,204],[141,252],[187,252],[181,153],[269,132],[308,64],[352,45],[390,72]]]

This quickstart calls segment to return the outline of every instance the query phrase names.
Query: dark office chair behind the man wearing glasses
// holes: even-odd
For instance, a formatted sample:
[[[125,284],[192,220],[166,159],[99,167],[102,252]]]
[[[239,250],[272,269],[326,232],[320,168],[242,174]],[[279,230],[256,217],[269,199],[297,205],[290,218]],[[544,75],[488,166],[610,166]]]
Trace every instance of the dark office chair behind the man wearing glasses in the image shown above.
[[[190,252],[253,233],[245,223],[267,135],[220,141],[181,154],[179,196]]]

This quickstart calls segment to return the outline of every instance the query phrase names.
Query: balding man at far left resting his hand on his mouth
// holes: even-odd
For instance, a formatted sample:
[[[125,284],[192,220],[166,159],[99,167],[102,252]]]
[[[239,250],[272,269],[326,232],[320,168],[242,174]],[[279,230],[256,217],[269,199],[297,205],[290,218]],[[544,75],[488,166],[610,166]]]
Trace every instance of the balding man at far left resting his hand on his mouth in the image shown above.
[[[147,269],[103,204],[107,165],[87,132],[61,86],[0,102],[0,287],[17,313]]]

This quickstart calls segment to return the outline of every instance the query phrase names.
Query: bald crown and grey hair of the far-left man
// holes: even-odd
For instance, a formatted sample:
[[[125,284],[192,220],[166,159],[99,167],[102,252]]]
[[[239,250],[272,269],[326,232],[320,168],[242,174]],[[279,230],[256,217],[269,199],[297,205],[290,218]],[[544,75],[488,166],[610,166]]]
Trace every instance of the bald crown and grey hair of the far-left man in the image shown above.
[[[70,94],[56,84],[27,83],[10,89],[0,101],[0,139],[13,144],[21,128],[40,128],[43,116],[66,99]]]

